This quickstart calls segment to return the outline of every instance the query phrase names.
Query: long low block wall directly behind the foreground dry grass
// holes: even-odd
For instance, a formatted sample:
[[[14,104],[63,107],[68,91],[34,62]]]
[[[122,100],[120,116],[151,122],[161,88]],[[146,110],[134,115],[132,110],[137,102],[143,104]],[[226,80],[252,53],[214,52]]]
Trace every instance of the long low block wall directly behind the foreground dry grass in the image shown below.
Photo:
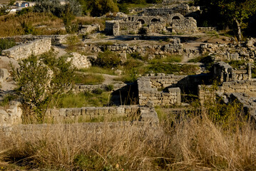
[[[47,110],[46,120],[53,120],[55,122],[86,122],[93,119],[101,118],[111,119],[133,117],[133,115],[137,115],[138,113],[140,113],[138,105],[123,105],[118,107],[97,108],[61,108]]]

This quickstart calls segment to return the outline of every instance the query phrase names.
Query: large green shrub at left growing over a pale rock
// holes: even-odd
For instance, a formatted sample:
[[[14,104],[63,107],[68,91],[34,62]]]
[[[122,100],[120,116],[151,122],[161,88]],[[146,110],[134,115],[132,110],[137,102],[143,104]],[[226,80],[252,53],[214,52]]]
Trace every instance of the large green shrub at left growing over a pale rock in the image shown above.
[[[19,66],[16,69],[12,67],[19,94],[24,105],[29,106],[41,123],[53,97],[71,88],[71,63],[67,63],[63,57],[56,58],[53,53],[45,53],[40,60],[34,55],[23,59],[19,61]]]

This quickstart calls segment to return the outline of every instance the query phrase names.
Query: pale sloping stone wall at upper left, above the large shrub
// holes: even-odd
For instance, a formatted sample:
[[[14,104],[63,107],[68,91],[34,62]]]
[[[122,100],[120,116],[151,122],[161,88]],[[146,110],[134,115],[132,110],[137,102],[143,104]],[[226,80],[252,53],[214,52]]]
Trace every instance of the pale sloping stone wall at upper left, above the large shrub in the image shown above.
[[[32,54],[40,55],[51,50],[51,38],[43,38],[31,43],[21,44],[2,51],[2,56],[14,58],[14,60],[28,58]]]

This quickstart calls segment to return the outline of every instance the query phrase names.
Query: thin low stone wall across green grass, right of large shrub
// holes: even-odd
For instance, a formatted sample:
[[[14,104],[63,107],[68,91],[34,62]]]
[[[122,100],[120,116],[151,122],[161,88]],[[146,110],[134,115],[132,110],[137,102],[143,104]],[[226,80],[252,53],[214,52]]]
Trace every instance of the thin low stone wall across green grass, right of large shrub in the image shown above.
[[[127,84],[125,83],[116,83],[113,84],[113,90],[118,90],[121,88],[126,87]],[[108,85],[106,84],[100,84],[100,85],[76,85],[73,86],[72,91],[73,93],[83,93],[83,92],[93,92],[94,90],[101,89],[101,90],[107,90]]]

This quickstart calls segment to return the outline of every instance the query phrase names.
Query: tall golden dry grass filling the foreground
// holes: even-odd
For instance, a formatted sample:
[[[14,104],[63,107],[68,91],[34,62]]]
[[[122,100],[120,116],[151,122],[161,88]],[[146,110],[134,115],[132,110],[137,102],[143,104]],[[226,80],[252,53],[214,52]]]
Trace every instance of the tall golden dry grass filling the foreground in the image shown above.
[[[250,123],[223,129],[204,113],[162,129],[150,125],[82,125],[1,137],[4,161],[61,170],[255,170],[256,130]]]

